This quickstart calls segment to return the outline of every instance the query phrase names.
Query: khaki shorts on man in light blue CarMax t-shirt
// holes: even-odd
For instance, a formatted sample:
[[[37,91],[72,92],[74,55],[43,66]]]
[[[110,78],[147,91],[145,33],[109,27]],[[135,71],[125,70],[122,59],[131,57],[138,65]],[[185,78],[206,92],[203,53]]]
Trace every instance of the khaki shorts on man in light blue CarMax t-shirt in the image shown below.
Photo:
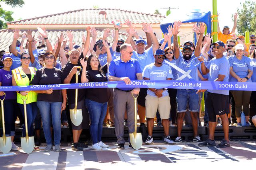
[[[156,96],[146,96],[146,117],[154,118],[156,116],[156,111],[158,108],[161,119],[169,119],[170,117],[170,97],[164,96],[158,98]]]

